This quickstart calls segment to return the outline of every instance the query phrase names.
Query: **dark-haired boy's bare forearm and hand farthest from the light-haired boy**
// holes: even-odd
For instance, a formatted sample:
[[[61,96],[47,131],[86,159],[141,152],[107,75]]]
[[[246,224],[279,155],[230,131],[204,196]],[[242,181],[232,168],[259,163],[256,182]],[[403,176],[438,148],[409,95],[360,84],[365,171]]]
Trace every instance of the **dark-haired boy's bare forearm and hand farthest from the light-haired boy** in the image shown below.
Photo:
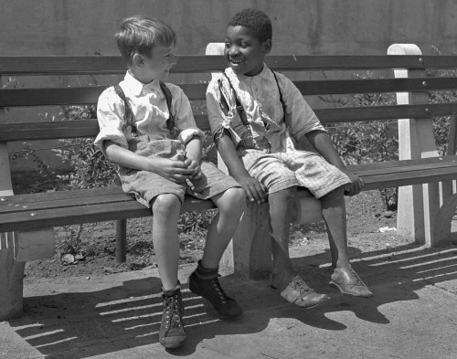
[[[311,131],[305,134],[308,141],[314,146],[318,153],[324,157],[329,164],[335,165],[340,171],[345,173],[351,180],[350,188],[345,189],[345,195],[357,195],[364,187],[364,181],[356,174],[347,170],[345,163],[341,160],[335,149],[334,143],[324,131]],[[300,140],[299,140],[300,143]]]

